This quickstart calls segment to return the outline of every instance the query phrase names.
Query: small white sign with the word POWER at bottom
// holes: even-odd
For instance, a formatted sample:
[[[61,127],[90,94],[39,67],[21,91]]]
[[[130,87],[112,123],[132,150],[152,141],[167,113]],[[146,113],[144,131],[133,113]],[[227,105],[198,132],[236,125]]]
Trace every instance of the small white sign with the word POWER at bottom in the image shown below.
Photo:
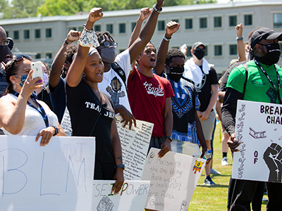
[[[94,180],[92,211],[143,211],[149,181],[124,181],[121,191],[111,194],[114,180]]]

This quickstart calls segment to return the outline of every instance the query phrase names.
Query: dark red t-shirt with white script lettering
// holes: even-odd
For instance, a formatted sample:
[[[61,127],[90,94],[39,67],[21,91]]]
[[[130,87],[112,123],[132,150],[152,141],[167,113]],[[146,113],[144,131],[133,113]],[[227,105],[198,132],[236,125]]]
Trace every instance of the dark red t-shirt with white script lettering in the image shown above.
[[[153,74],[147,77],[135,68],[128,77],[128,99],[136,120],[154,123],[152,136],[164,133],[164,107],[166,98],[174,96],[171,83],[164,77]]]

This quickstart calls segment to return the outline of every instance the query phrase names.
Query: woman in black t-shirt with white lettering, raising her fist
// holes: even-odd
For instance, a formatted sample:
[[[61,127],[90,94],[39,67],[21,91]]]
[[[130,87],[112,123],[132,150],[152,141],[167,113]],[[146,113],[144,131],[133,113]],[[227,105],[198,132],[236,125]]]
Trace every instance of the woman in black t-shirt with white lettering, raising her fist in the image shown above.
[[[123,185],[121,141],[116,129],[116,119],[111,98],[98,89],[102,82],[104,63],[96,49],[92,30],[102,18],[102,8],[92,8],[78,41],[75,56],[66,77],[67,106],[71,115],[74,136],[95,136],[96,155],[94,179],[115,179],[115,194]]]

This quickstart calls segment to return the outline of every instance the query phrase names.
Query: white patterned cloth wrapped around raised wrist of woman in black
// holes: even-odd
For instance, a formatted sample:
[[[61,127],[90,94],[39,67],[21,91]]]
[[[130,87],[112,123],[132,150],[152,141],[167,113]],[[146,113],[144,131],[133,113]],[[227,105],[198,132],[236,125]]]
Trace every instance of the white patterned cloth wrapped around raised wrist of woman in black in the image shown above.
[[[96,33],[93,30],[83,29],[78,44],[83,47],[100,46]]]

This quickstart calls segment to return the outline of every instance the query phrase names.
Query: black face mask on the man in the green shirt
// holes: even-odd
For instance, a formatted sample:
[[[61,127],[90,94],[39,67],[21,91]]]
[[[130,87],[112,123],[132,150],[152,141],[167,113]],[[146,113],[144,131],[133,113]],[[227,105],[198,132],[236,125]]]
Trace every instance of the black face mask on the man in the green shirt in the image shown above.
[[[265,65],[274,65],[278,63],[280,58],[280,46],[278,43],[274,44],[260,44],[262,46],[266,46],[267,53],[264,55],[264,60],[266,60]]]

